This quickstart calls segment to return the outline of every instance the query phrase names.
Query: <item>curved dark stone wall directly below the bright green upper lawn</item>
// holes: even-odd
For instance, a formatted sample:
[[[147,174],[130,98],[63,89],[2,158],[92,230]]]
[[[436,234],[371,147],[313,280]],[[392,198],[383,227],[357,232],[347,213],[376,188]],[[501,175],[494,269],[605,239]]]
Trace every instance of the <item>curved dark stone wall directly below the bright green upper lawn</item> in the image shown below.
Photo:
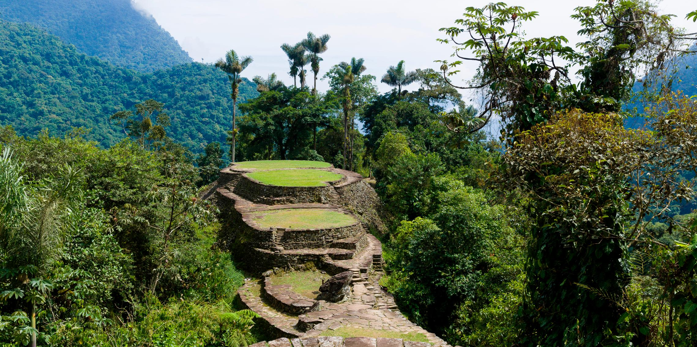
[[[265,185],[246,174],[240,175],[233,193],[253,203],[287,205],[290,203],[329,203],[329,187],[282,187]]]

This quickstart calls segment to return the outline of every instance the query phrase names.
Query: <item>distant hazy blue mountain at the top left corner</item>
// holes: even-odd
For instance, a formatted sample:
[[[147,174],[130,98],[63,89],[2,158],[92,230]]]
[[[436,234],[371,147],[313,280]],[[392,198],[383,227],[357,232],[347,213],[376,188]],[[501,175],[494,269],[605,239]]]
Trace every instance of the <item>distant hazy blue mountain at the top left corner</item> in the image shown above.
[[[131,0],[3,0],[0,19],[47,29],[80,52],[114,65],[152,72],[192,60]]]

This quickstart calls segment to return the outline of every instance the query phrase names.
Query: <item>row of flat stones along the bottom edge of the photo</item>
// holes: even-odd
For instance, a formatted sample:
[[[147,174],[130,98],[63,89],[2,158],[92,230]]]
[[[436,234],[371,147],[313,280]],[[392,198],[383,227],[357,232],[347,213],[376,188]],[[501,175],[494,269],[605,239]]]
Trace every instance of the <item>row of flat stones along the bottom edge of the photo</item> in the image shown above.
[[[431,347],[428,342],[405,341],[385,337],[300,337],[296,339],[275,339],[262,341],[250,347]]]

